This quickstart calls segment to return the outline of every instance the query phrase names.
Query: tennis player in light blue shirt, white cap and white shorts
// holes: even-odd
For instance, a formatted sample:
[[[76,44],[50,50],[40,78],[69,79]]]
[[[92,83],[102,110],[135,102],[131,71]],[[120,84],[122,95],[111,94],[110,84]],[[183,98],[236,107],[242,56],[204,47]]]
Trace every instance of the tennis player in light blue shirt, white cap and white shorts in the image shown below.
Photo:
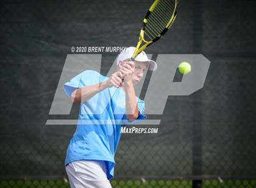
[[[71,187],[112,187],[115,152],[126,122],[145,119],[144,101],[135,96],[137,84],[147,69],[157,64],[145,52],[132,57],[135,47],[118,55],[118,68],[107,78],[94,70],[85,70],[64,84],[74,103],[80,103],[76,132],[66,151],[66,173]]]

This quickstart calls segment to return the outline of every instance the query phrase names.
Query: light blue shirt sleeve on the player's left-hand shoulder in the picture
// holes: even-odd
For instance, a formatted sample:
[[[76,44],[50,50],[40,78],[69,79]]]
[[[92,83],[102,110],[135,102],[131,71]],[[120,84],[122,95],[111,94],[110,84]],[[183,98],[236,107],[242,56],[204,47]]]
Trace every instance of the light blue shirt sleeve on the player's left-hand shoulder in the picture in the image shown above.
[[[95,73],[93,70],[85,70],[84,72],[72,78],[69,82],[66,82],[63,85],[63,89],[66,95],[70,97],[74,90],[90,85],[92,78],[95,78]]]

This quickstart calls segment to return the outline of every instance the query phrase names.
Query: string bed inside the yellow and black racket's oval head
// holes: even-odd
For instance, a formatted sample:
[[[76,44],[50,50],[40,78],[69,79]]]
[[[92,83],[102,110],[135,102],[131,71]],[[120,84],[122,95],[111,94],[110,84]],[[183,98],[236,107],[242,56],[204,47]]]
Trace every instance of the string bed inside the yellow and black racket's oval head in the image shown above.
[[[148,16],[144,27],[144,35],[150,40],[157,38],[168,26],[175,10],[175,0],[160,0]],[[148,39],[146,39],[148,40]]]

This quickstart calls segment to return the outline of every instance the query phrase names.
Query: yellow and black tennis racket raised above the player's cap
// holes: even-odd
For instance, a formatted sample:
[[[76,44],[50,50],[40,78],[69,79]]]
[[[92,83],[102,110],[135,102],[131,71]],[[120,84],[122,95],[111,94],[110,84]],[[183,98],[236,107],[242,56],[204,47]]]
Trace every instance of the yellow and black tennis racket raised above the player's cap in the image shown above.
[[[134,60],[141,51],[165,35],[176,19],[177,9],[178,0],[154,1],[143,19],[140,38],[130,60]]]

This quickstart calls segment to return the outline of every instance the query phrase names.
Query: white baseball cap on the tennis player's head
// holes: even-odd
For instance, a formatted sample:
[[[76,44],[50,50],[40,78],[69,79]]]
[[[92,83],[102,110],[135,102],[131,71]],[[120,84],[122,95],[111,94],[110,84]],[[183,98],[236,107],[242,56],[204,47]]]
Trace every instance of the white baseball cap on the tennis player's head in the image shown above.
[[[135,47],[127,47],[121,53],[119,53],[117,58],[117,64],[119,64],[119,61],[124,61],[126,59],[132,58],[132,55],[135,49],[136,49]],[[149,62],[149,70],[152,70],[152,71],[157,70],[157,63],[149,59],[144,51],[139,53],[139,55],[135,58],[135,61]]]

